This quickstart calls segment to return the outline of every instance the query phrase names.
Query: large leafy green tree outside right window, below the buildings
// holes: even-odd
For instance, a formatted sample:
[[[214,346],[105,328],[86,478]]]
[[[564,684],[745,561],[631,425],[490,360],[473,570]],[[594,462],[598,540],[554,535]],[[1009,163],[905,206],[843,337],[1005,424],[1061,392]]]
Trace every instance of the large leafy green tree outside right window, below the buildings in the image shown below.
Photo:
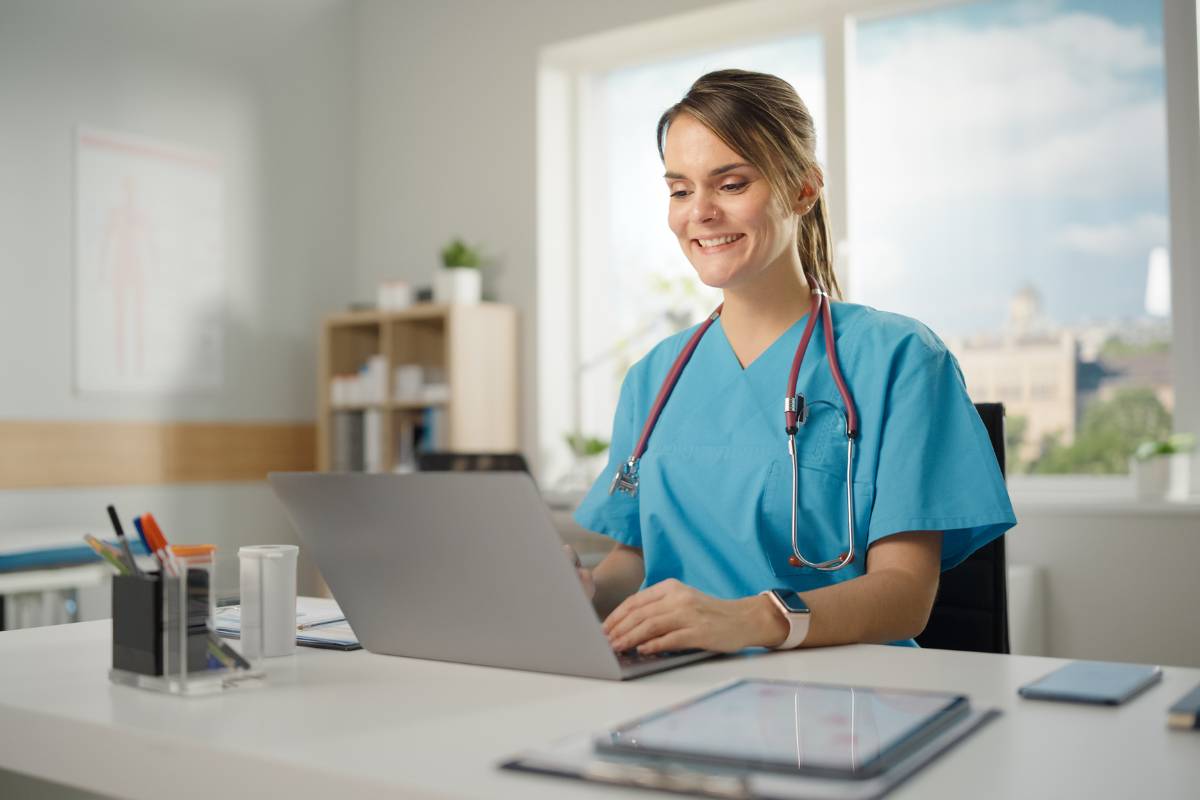
[[[1042,440],[1042,455],[1030,471],[1054,474],[1110,474],[1129,470],[1129,457],[1146,439],[1171,432],[1171,414],[1145,387],[1122,389],[1109,401],[1093,402],[1084,411],[1075,441],[1064,445],[1055,434]]]

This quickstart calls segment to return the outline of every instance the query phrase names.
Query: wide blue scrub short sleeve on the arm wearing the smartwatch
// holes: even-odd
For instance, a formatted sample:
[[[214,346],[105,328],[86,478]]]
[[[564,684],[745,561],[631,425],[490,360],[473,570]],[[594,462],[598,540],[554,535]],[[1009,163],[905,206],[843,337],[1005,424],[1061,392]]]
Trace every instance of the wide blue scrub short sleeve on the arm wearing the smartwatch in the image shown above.
[[[946,349],[906,356],[888,389],[868,546],[942,531],[942,570],[1016,524],[983,420]]]

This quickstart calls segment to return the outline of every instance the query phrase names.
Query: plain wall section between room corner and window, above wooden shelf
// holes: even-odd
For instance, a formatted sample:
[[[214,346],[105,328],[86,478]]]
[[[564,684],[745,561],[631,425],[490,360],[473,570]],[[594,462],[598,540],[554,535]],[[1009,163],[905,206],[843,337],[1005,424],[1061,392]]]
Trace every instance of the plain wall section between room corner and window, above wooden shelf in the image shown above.
[[[536,458],[536,67],[541,47],[715,0],[364,0],[359,31],[359,295],[386,277],[430,283],[461,234],[521,311],[524,452]],[[565,269],[565,265],[564,265]],[[486,390],[484,390],[486,391]]]

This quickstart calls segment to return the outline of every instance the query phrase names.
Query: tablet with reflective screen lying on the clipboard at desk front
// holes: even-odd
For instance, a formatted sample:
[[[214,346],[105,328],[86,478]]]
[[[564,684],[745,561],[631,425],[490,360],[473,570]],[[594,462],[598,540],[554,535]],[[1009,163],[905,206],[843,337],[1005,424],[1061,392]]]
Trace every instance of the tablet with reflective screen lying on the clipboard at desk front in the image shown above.
[[[640,717],[600,752],[746,770],[866,778],[970,709],[964,694],[740,680]]]

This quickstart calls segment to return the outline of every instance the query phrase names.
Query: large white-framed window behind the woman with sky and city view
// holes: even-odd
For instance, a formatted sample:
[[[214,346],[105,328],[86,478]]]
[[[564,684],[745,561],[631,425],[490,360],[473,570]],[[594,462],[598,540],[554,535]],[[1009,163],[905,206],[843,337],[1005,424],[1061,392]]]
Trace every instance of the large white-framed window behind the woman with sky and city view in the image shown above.
[[[1172,415],[1200,429],[1200,327],[1178,311],[1200,281],[1172,281],[1168,249],[1200,258],[1200,234],[1169,224],[1200,215],[1195,8],[816,5],[718,6],[542,53],[539,319],[566,333],[538,339],[559,381],[539,383],[542,464],[568,431],[607,438],[624,368],[715,303],[666,227],[653,131],[727,66],[804,97],[848,299],[925,321],[974,399],[1008,403],[1014,471],[1120,471],[1114,447]],[[1086,438],[1115,426],[1088,462]]]

